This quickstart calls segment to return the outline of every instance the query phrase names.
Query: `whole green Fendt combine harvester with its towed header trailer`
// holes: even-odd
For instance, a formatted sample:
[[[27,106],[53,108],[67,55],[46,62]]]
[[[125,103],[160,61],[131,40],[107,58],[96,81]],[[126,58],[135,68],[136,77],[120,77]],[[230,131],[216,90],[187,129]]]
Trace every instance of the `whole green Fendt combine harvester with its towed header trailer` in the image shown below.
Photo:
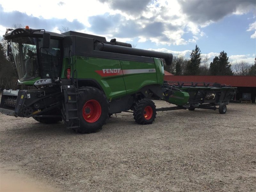
[[[69,31],[7,29],[8,55],[15,62],[18,84],[35,89],[4,90],[0,112],[33,117],[41,123],[64,121],[68,128],[90,133],[108,116],[132,112],[139,124],[151,124],[156,111],[206,108],[226,113],[235,88],[213,84],[164,82],[163,62],[172,54],[132,48],[131,44]],[[152,100],[176,107],[156,108]]]

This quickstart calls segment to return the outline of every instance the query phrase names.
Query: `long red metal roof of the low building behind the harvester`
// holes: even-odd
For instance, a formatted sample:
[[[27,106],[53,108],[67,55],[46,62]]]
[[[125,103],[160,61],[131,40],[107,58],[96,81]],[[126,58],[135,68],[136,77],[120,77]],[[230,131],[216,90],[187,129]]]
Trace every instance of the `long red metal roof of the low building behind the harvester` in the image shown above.
[[[164,76],[165,81],[212,82],[232,87],[256,87],[256,76]]]

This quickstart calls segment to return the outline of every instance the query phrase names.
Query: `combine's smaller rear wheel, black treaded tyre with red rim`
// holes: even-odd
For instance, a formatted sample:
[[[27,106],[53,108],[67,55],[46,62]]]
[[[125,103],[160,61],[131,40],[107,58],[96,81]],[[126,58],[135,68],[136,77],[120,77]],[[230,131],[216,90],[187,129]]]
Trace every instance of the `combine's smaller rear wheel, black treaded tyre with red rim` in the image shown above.
[[[135,103],[133,118],[138,124],[152,124],[156,118],[156,105],[152,100],[143,99]]]

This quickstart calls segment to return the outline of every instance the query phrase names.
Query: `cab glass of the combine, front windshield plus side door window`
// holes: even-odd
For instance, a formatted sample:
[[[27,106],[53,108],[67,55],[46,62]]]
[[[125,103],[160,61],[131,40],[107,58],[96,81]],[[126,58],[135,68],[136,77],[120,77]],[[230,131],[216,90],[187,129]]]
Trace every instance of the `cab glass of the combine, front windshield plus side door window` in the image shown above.
[[[43,38],[12,38],[11,47],[19,80],[57,78],[61,69],[60,46],[57,39],[51,39],[50,47],[43,48]]]

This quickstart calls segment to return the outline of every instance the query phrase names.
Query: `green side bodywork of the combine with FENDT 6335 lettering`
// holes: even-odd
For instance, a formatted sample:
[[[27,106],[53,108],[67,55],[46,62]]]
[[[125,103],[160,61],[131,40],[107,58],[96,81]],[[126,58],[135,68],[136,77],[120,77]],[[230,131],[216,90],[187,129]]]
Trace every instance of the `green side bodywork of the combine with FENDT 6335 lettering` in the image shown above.
[[[146,85],[161,85],[164,79],[163,64],[157,59],[155,63],[80,56],[74,56],[72,60],[76,63],[71,65],[71,74],[76,69],[77,79],[97,81],[108,99],[134,94]],[[67,78],[68,66],[68,59],[64,59],[61,78]]]

